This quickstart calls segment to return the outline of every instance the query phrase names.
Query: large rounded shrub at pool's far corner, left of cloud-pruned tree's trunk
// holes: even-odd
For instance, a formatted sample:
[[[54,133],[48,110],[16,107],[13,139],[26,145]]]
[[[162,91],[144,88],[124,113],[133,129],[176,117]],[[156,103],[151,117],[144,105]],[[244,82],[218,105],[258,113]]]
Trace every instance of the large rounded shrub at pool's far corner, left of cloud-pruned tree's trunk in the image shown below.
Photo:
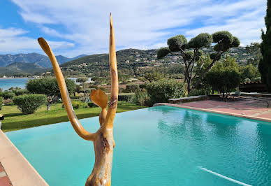
[[[147,92],[152,103],[168,102],[168,99],[179,98],[184,96],[184,83],[177,80],[158,80],[147,83]]]

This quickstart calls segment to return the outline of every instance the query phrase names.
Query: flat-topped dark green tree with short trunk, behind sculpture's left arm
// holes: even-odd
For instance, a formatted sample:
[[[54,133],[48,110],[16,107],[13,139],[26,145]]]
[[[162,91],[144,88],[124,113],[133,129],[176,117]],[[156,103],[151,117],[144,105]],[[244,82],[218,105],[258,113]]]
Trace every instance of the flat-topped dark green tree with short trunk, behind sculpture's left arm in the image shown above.
[[[72,94],[75,91],[75,82],[68,79],[65,82],[68,92]],[[32,94],[45,94],[47,96],[47,110],[50,110],[50,106],[61,98],[57,79],[55,78],[29,80],[27,82],[27,90]]]

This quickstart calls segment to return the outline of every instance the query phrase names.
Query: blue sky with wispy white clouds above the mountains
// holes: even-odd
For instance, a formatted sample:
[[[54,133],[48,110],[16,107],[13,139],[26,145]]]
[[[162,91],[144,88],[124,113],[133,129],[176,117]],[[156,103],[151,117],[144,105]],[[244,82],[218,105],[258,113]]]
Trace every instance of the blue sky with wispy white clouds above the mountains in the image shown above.
[[[112,13],[116,49],[153,49],[182,34],[228,30],[241,45],[261,42],[267,0],[1,0],[0,54],[38,52],[43,37],[55,55],[109,50]]]

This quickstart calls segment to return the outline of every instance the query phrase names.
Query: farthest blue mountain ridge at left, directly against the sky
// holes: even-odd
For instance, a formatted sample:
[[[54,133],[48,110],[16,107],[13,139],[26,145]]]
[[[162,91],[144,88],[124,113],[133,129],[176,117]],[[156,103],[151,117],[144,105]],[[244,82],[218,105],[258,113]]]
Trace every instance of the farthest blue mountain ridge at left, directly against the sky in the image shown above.
[[[73,58],[64,57],[62,55],[58,55],[57,60],[59,64],[64,64],[68,61],[78,59],[80,57],[84,57],[85,55],[80,55]],[[17,54],[17,55],[0,55],[0,67],[8,66],[9,64],[13,64],[15,62],[20,63],[30,63],[30,64],[38,64],[45,68],[51,68],[52,64],[50,59],[45,55],[40,55],[37,53],[29,53],[29,54]]]

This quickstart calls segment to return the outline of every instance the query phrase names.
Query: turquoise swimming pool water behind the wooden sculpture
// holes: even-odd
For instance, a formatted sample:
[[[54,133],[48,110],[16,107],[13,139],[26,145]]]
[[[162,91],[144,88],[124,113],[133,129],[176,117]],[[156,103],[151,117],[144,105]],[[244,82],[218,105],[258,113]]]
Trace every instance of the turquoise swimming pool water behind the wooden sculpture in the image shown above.
[[[69,122],[6,135],[49,185],[85,185],[94,148]],[[271,185],[268,122],[159,106],[118,113],[114,136],[112,185]]]

